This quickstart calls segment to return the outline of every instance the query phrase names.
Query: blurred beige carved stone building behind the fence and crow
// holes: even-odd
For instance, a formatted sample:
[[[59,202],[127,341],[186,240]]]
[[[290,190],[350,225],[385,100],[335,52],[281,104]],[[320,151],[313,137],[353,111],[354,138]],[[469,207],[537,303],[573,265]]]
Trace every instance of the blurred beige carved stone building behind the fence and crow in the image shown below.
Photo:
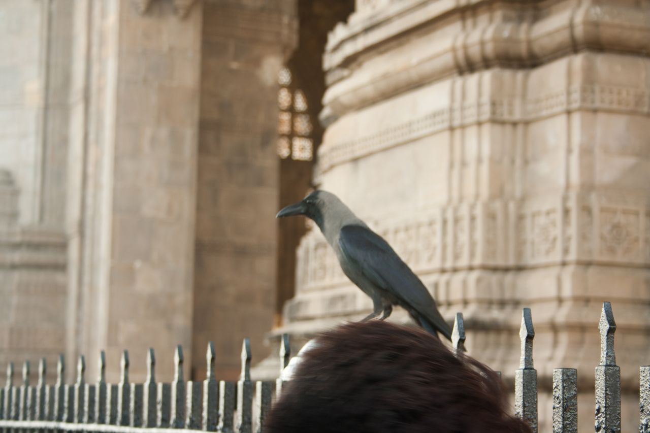
[[[244,335],[259,360],[362,317],[320,232],[274,220],[322,187],[506,381],[532,309],[541,428],[554,367],[578,368],[593,425],[612,301],[636,422],[647,1],[4,0],[0,36],[0,363],[105,348],[116,374],[128,348],[138,380],[149,345],[181,343],[201,378],[214,340],[233,376]]]

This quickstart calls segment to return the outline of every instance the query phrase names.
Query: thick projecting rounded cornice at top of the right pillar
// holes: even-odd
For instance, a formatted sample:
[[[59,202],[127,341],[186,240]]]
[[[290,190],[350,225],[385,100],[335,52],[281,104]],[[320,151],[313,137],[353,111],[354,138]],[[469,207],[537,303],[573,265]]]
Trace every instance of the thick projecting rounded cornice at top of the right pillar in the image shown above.
[[[523,1],[482,0],[471,7],[459,7],[456,1],[383,3],[390,4],[372,13],[357,11],[348,23],[337,25],[330,33],[324,55],[328,71],[325,122],[453,73],[495,66],[530,68],[582,49],[639,55],[650,51],[647,8],[563,1],[554,5],[553,13],[545,13],[543,5],[548,2],[535,2],[539,10]],[[473,12],[468,14],[466,8]],[[463,26],[465,30],[452,31],[450,26],[458,20],[450,20],[449,14],[460,14],[458,20],[469,20],[465,15],[475,18]],[[415,26],[434,28],[428,29],[426,36],[421,30],[413,36],[409,31]],[[402,36],[404,42],[399,40]],[[378,45],[389,49],[380,50],[376,57],[395,57],[402,45],[413,46],[413,38],[425,37],[430,43],[421,52],[426,54],[409,57],[411,53],[406,51],[408,58],[398,61],[404,67],[397,70],[393,68],[395,59],[371,65],[361,60]]]

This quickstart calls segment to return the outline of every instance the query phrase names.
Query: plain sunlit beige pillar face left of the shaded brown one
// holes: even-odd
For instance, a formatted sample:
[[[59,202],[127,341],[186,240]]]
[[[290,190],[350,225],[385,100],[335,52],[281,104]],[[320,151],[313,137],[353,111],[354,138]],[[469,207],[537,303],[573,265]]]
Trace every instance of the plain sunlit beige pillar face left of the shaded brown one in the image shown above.
[[[70,351],[86,353],[94,376],[105,348],[116,380],[127,349],[142,381],[153,347],[170,380],[174,347],[192,335],[201,2],[75,7]]]

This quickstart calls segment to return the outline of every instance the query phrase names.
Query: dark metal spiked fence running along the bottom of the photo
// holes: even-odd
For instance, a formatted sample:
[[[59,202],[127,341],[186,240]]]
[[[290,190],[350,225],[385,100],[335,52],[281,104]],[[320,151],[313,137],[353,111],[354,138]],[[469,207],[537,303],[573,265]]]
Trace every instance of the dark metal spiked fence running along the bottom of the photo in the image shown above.
[[[609,302],[604,302],[601,320],[601,361],[595,372],[595,431],[621,431],[620,369],[614,354],[616,322]],[[532,342],[535,336],[530,309],[521,318],[521,361],[515,371],[515,412],[538,430],[537,371],[533,367]],[[465,342],[463,316],[456,314],[452,343],[460,354]],[[283,335],[280,347],[281,367],[289,362],[289,337]],[[14,386],[14,367],[7,367],[6,385],[0,389],[0,430],[83,430],[87,432],[164,431],[183,428],[216,432],[261,432],[275,393],[282,382],[252,381],[250,343],[244,339],[242,369],[235,382],[214,377],[214,345],[207,348],[207,378],[202,382],[183,380],[183,351],[175,350],[175,374],[172,383],[155,380],[153,349],[147,356],[148,374],[144,384],[129,382],[129,354],[122,354],[118,384],[105,380],[105,355],[99,356],[99,378],[95,384],[85,381],[85,359],[79,357],[77,381],[64,384],[63,357],[57,364],[57,382],[45,384],[45,360],[38,368],[38,384],[29,384],[29,361],[23,365],[23,384]],[[650,433],[650,366],[640,367],[641,433]],[[553,433],[576,433],[577,371],[553,371]]]

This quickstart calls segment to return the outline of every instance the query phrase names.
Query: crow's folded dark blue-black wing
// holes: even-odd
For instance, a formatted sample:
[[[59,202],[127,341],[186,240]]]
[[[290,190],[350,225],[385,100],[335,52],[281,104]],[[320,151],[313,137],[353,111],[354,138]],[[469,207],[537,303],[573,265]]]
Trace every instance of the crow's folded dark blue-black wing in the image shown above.
[[[344,226],[339,234],[339,246],[346,259],[359,267],[374,285],[420,313],[438,332],[451,339],[451,329],[435,306],[434,298],[380,235],[363,226]]]

